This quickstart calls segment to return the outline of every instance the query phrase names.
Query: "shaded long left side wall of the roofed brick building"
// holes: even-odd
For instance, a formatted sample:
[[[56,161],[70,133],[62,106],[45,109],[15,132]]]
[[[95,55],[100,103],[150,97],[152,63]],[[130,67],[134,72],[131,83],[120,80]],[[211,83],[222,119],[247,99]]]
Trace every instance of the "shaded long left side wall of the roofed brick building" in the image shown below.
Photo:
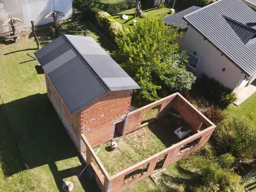
[[[65,126],[71,139],[73,140],[77,149],[79,150],[79,146],[80,146],[79,138],[81,135],[81,133],[80,133],[80,111],[71,115],[47,75],[45,75],[45,82],[46,82],[48,98],[52,102],[52,105],[55,108],[55,110],[57,111],[63,125]],[[75,127],[77,127],[77,131],[75,131],[73,129],[72,124]],[[78,137],[78,139],[77,139],[77,137]]]

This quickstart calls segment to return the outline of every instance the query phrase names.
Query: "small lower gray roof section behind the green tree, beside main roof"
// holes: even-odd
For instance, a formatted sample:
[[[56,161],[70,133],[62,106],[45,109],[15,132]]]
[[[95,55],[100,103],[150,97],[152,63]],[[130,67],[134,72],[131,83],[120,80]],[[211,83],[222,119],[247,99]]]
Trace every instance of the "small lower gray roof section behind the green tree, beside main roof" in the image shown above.
[[[201,7],[198,6],[191,6],[188,9],[185,9],[183,11],[180,11],[178,13],[175,13],[169,17],[166,17],[163,19],[164,23],[166,25],[174,25],[174,27],[180,27],[182,30],[186,30],[188,28],[188,23],[183,19],[183,16],[192,13],[198,9],[201,9]]]

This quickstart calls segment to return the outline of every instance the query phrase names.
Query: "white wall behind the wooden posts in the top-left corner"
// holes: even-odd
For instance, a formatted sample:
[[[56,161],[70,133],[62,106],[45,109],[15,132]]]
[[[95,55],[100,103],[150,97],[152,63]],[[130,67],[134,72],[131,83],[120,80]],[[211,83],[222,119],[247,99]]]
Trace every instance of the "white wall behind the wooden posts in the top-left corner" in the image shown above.
[[[52,19],[44,19],[44,16],[54,9],[65,13],[68,19],[72,15],[72,0],[0,0],[0,21],[10,17],[19,18],[23,21],[17,28],[30,26],[34,20],[35,25],[44,25],[53,22]],[[10,27],[3,27],[0,23],[0,33],[11,30]]]

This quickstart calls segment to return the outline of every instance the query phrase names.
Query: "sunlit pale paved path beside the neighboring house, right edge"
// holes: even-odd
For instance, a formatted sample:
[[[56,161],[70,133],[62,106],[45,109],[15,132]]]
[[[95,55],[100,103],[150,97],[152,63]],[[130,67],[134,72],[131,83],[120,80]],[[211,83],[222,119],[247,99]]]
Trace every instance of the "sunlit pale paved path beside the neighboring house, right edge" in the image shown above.
[[[244,87],[244,89],[236,93],[237,101],[234,102],[234,105],[239,106],[242,102],[244,102],[246,99],[251,97],[251,95],[255,92],[256,92],[256,81],[252,82],[251,85]]]

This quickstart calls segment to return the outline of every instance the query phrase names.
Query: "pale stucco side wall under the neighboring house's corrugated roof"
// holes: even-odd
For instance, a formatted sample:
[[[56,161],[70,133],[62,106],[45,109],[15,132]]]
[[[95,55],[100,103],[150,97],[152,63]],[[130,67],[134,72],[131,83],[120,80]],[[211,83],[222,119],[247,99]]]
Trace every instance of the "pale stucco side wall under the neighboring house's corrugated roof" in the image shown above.
[[[204,41],[204,37],[191,26],[188,27],[183,47],[190,53],[196,51],[196,56],[201,58],[195,72],[196,75],[204,73],[232,90],[239,86],[239,82],[241,83],[241,78],[245,74],[241,73],[242,71],[225,55],[221,56],[221,53],[212,44],[207,40]],[[223,72],[222,68],[226,70]]]

